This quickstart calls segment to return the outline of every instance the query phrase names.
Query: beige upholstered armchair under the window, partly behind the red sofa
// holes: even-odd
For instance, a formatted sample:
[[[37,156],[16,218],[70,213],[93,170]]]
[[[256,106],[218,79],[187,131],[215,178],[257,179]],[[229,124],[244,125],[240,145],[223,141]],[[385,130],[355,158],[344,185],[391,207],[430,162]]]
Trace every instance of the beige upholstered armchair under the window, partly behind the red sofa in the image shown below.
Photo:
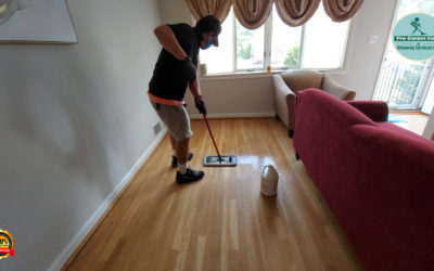
[[[295,98],[299,90],[320,89],[346,101],[352,101],[356,92],[332,80],[330,75],[318,70],[292,70],[273,76],[276,119],[288,127],[289,136],[294,136]]]

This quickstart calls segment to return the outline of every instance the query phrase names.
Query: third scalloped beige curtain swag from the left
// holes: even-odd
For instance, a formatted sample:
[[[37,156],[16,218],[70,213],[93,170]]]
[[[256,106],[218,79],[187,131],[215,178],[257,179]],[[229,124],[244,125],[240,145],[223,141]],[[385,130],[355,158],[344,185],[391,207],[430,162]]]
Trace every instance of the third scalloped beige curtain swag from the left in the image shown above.
[[[289,26],[301,26],[317,11],[321,0],[275,0],[279,17]]]

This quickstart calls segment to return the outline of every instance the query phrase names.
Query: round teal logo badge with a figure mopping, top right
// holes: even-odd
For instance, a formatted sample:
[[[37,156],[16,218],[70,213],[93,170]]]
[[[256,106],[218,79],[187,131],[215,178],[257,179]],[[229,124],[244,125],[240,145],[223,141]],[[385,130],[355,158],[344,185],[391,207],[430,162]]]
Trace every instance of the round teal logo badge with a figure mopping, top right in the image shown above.
[[[409,14],[398,21],[393,31],[396,50],[405,57],[424,61],[434,56],[434,17]]]

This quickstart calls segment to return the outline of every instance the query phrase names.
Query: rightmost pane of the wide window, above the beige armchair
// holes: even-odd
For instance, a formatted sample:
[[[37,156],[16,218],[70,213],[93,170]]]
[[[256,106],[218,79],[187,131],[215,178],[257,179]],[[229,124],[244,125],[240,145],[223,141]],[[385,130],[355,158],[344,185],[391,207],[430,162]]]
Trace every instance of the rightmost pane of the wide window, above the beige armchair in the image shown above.
[[[321,5],[305,24],[302,67],[340,68],[345,57],[349,21],[334,23]]]

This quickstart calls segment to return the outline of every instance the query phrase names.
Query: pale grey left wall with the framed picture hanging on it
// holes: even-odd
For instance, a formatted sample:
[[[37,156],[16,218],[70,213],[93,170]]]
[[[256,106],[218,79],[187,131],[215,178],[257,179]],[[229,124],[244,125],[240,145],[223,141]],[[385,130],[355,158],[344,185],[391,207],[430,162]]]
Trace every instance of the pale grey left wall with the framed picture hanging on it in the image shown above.
[[[0,44],[1,270],[49,268],[156,140],[157,1],[68,5],[78,44]]]

